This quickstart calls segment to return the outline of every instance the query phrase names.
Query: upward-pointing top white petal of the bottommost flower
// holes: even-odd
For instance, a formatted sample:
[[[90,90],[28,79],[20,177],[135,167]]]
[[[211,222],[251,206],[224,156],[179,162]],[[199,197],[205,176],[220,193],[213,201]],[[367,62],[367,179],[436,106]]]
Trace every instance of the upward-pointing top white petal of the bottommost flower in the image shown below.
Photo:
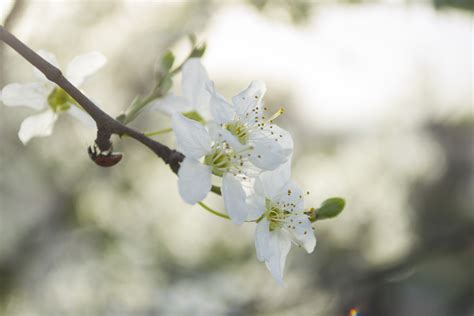
[[[263,189],[266,198],[275,200],[280,197],[283,190],[290,181],[291,163],[285,163],[275,170],[265,171],[260,174],[255,182],[256,192]],[[257,186],[261,186],[259,189]]]

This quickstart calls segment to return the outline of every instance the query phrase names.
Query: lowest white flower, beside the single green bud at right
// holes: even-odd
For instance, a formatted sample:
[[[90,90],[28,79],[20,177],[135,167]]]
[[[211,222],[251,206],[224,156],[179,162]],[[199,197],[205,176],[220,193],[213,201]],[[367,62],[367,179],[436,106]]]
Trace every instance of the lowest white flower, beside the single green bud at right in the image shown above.
[[[289,164],[263,172],[255,182],[253,208],[262,218],[257,224],[257,258],[283,284],[283,270],[291,244],[313,252],[316,238],[304,208],[303,192],[290,178]]]

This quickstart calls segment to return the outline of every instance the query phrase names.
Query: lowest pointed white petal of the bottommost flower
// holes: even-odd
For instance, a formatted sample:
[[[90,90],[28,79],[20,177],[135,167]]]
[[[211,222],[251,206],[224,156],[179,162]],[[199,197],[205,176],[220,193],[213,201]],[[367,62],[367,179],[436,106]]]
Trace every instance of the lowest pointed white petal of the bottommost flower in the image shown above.
[[[283,271],[288,252],[291,249],[291,240],[281,230],[270,232],[268,238],[269,258],[265,258],[265,264],[272,276],[280,285],[283,285]]]

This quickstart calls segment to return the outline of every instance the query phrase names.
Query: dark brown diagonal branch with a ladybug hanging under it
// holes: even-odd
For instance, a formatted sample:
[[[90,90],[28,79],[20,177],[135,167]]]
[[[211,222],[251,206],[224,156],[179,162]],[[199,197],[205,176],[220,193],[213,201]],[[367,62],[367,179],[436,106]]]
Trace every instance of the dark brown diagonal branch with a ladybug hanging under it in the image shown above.
[[[166,145],[161,144],[112,118],[110,115],[102,111],[87,96],[85,96],[78,88],[69,82],[61,73],[61,70],[51,65],[31,48],[21,42],[13,34],[5,30],[0,25],[0,40],[13,48],[18,54],[25,58],[30,64],[41,71],[46,78],[56,83],[64,91],[66,91],[76,102],[94,119],[97,124],[96,144],[102,151],[111,148],[110,137],[112,134],[127,135],[139,141],[158,157],[168,164],[174,173],[177,173],[184,155]]]

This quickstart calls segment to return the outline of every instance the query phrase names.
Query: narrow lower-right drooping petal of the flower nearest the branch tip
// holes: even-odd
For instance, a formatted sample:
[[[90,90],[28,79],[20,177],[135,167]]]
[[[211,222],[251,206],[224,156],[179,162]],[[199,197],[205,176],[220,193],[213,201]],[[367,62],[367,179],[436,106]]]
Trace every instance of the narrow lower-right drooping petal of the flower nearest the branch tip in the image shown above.
[[[240,182],[232,175],[226,174],[222,179],[222,196],[224,205],[232,223],[242,224],[248,215],[248,205],[245,203],[245,192]]]

